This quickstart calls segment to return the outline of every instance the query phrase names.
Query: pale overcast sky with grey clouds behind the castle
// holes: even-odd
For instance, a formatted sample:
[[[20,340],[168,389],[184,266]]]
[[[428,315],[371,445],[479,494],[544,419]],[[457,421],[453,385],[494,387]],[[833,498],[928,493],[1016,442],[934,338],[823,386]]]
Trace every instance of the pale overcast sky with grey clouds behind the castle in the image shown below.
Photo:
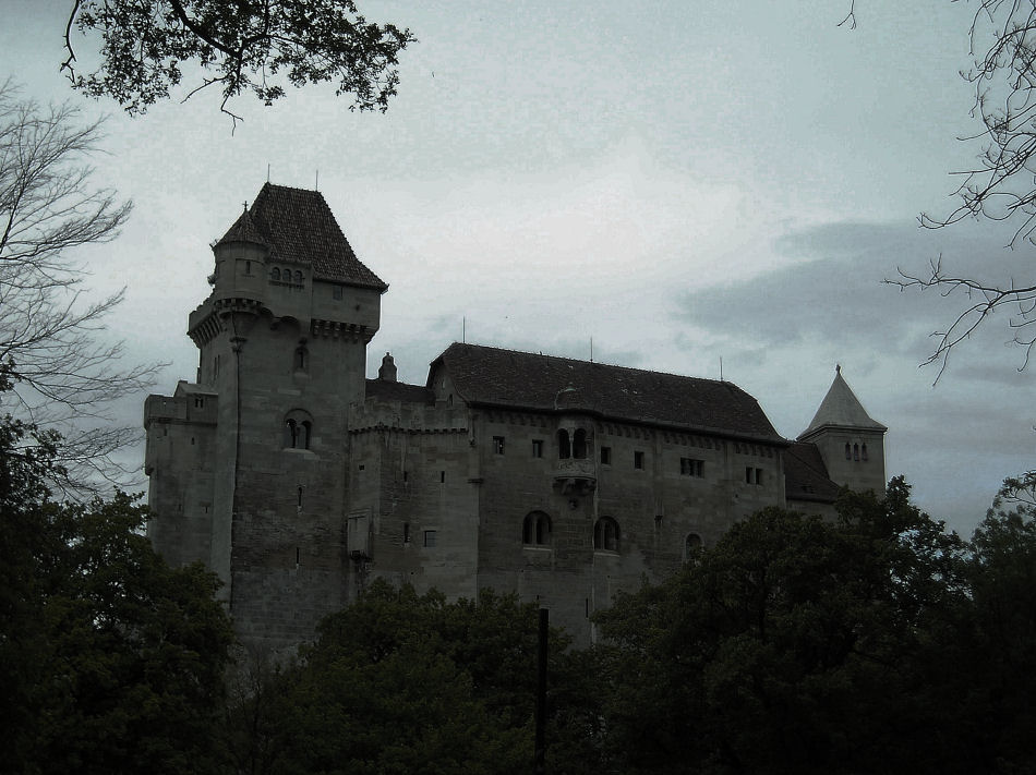
[[[987,223],[917,227],[953,208],[950,172],[979,150],[957,141],[977,130],[957,74],[971,7],[856,4],[851,31],[848,0],[363,0],[420,39],[388,113],[310,87],[273,108],[239,99],[233,133],[215,93],[136,119],[73,95],[58,73],[68,3],[0,0],[0,75],[109,116],[95,180],[135,209],[79,257],[98,293],[127,287],[111,335],[170,362],[156,391],[193,376],[184,330],[208,245],[268,175],[318,186],[390,284],[371,375],[391,351],[423,384],[462,336],[582,359],[592,339],[607,363],[719,377],[722,361],[794,437],[838,363],[890,428],[890,475],[969,534],[1003,476],[1033,467],[1034,373],[1000,314],[933,386],[918,364],[964,300],[881,281],[938,256],[1031,277],[1032,249]],[[122,414],[135,422],[143,398]]]

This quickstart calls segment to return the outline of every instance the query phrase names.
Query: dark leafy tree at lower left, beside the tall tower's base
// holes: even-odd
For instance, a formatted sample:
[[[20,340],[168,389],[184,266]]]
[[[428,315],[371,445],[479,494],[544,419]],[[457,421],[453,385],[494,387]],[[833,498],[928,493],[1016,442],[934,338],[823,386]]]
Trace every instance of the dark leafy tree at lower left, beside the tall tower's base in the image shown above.
[[[58,444],[0,420],[0,770],[212,770],[232,641],[218,581],[169,568],[130,496],[51,499]]]

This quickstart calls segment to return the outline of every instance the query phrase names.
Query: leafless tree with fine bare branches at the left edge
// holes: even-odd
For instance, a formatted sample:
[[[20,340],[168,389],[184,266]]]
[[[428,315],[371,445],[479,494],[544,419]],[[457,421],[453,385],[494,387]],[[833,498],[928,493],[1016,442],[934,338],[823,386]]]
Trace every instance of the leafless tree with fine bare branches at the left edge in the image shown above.
[[[115,239],[131,210],[89,183],[99,140],[99,123],[82,123],[74,108],[0,85],[0,364],[12,383],[0,407],[61,433],[57,484],[67,494],[129,484],[112,455],[140,432],[115,425],[110,408],[146,389],[158,367],[120,365],[123,344],[105,340],[105,318],[123,293],[88,301],[70,257]]]

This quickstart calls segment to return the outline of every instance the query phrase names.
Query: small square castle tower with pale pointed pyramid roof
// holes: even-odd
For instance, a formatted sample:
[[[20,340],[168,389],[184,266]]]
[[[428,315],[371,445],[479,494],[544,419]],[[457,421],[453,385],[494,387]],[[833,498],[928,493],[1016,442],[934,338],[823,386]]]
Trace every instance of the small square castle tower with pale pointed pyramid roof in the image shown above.
[[[831,481],[855,489],[883,493],[884,434],[888,428],[867,414],[836,366],[834,382],[812,422],[798,437],[815,444]]]

